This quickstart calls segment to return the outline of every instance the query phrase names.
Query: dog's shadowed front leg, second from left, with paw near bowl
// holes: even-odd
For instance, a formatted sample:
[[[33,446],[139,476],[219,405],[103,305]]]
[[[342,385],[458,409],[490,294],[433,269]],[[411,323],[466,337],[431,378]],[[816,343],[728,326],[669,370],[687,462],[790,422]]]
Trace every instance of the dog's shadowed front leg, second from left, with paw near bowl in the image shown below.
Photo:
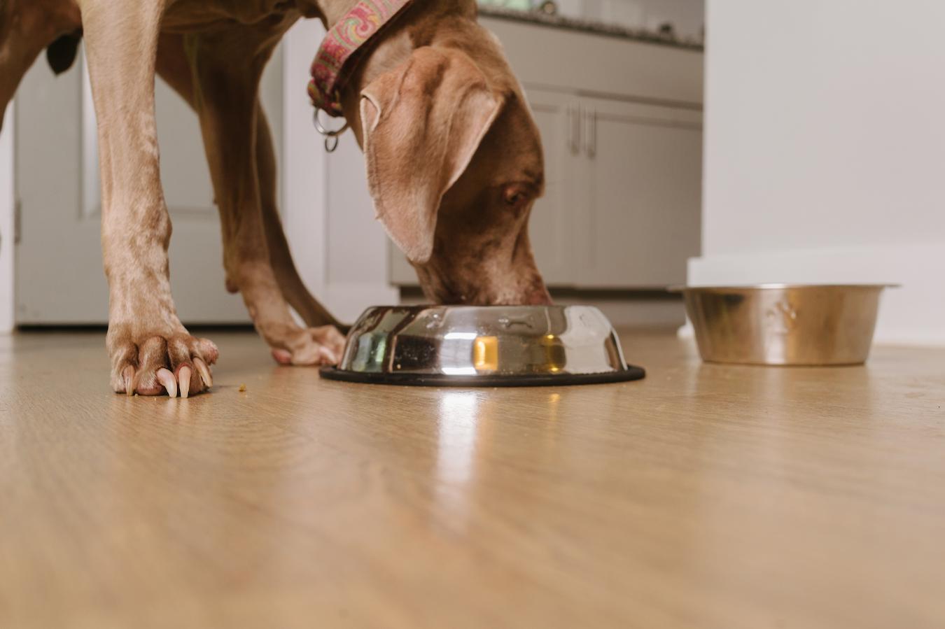
[[[335,364],[344,337],[333,325],[307,330],[296,325],[266,243],[257,164],[258,89],[272,42],[277,41],[273,33],[237,25],[188,36],[185,48],[194,72],[194,104],[214,179],[231,289],[243,295],[256,329],[277,361]],[[267,135],[262,141],[269,142]],[[274,204],[274,190],[269,192]],[[325,323],[333,321],[324,311],[315,316],[323,316]]]

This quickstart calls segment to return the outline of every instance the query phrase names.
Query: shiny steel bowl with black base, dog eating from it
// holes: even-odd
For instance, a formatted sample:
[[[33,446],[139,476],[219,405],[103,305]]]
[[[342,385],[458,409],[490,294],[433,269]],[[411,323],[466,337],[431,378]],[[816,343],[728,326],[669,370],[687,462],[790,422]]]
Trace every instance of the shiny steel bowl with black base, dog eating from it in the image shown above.
[[[541,386],[644,378],[589,306],[370,308],[330,380],[423,386]]]

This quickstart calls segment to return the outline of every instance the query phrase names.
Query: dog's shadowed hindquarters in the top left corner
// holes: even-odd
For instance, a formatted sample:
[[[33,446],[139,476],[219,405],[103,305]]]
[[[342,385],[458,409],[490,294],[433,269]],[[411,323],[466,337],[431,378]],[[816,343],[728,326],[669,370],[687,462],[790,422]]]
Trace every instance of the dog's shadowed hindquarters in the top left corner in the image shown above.
[[[0,0],[0,125],[7,103],[43,48],[57,74],[69,69],[80,28],[75,0]]]

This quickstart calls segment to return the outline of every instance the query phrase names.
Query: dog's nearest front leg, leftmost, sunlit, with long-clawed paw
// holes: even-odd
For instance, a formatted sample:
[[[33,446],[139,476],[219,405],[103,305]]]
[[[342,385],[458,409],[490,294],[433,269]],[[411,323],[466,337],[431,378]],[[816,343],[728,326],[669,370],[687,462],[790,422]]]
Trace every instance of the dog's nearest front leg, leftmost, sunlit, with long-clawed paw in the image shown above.
[[[217,351],[184,329],[171,297],[154,119],[163,2],[85,0],[81,10],[98,116],[112,388],[187,397],[211,385]]]

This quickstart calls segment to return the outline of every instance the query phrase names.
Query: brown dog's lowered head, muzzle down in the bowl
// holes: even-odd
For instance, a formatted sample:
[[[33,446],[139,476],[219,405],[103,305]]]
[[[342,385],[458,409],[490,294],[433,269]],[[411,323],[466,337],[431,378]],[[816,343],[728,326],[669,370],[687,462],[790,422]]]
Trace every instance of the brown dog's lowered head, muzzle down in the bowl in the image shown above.
[[[541,139],[494,42],[413,50],[363,88],[358,114],[378,218],[428,298],[550,302],[527,230]]]

